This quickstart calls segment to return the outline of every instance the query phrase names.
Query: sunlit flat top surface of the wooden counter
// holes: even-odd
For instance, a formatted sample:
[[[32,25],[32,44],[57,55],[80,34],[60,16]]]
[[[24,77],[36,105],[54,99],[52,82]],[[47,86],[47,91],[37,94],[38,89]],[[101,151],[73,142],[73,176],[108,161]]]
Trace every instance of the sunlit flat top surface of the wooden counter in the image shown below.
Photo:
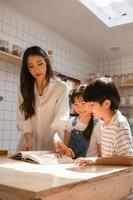
[[[0,185],[32,192],[59,190],[96,181],[117,173],[128,172],[132,167],[88,166],[77,167],[75,164],[32,164],[0,157]]]

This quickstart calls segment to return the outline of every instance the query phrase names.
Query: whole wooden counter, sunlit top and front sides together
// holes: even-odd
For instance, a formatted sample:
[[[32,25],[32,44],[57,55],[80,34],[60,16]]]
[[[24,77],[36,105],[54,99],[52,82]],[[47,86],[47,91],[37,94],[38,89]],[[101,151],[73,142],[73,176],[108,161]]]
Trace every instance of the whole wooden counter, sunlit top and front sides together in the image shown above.
[[[110,200],[118,200],[132,189],[133,167],[39,165],[0,157],[0,200],[106,200],[110,193]]]

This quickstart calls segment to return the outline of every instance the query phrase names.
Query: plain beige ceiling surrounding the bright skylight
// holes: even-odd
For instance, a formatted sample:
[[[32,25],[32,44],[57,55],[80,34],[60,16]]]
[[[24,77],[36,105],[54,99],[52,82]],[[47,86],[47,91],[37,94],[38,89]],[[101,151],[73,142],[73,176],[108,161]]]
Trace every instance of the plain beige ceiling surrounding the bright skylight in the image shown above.
[[[78,0],[1,0],[98,59],[133,55],[133,23],[107,27]],[[110,47],[120,50],[112,51]]]

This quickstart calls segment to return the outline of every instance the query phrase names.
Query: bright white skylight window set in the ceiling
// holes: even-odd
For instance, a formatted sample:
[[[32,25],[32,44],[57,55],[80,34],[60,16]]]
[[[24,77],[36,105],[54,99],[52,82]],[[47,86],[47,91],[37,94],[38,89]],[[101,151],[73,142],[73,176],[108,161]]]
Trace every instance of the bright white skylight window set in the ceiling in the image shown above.
[[[79,0],[107,26],[133,22],[133,0]]]

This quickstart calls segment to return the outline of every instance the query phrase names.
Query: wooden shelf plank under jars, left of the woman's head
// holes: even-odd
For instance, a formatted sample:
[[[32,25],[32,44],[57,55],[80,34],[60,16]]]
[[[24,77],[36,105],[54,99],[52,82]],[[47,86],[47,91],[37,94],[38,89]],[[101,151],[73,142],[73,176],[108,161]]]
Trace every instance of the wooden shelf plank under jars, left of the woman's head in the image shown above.
[[[0,60],[15,64],[15,65],[21,65],[21,62],[22,62],[22,58],[12,55],[10,53],[4,52],[4,51],[0,51]]]

